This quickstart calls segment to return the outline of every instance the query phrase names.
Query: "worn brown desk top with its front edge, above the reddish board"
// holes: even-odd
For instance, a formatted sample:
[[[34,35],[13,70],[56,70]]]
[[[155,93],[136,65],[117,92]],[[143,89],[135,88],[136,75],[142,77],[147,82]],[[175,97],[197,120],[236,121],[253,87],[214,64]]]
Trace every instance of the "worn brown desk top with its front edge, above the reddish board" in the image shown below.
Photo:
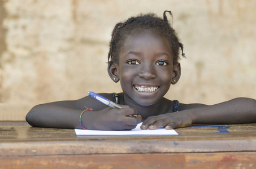
[[[82,136],[74,130],[0,127],[0,157],[14,155],[255,152],[256,124],[179,128],[178,136]]]

